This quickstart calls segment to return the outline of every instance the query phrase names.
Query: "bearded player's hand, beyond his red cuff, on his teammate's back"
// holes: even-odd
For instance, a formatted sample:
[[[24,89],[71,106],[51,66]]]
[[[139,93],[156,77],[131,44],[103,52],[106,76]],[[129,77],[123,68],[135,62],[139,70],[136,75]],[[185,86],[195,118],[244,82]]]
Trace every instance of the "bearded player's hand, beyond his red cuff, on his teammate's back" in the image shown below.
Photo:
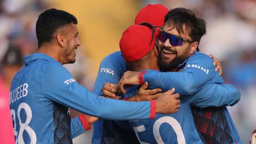
[[[119,81],[119,87],[121,91],[126,94],[126,90],[124,88],[125,85],[138,85],[139,82],[139,75],[141,72],[139,71],[126,71],[123,77]]]

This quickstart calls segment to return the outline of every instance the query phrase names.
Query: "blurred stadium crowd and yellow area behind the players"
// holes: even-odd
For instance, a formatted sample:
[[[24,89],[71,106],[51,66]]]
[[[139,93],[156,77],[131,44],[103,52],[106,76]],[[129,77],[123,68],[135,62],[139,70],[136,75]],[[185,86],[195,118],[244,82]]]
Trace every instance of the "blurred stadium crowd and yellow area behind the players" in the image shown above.
[[[229,107],[229,111],[243,143],[248,143],[251,131],[256,128],[255,0],[2,0],[0,59],[10,47],[19,49],[23,55],[37,50],[35,22],[43,10],[54,7],[68,11],[78,19],[82,45],[77,53],[77,62],[66,67],[79,83],[92,90],[100,61],[119,50],[123,30],[133,25],[137,12],[148,3],[161,3],[170,9],[186,7],[205,19],[207,34],[199,48],[221,60],[226,83],[235,85],[241,91],[241,100],[234,107]],[[6,106],[3,97],[8,95],[0,95],[0,110]],[[92,129],[74,139],[74,143],[90,143],[91,134]]]

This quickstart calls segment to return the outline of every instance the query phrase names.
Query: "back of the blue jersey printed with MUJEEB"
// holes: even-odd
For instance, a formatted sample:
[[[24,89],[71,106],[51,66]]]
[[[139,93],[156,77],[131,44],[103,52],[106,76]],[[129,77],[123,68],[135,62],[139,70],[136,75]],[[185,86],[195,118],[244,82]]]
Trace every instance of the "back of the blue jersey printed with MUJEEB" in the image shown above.
[[[15,140],[18,143],[71,143],[69,109],[45,97],[42,90],[43,72],[50,61],[28,56],[25,62],[14,76],[10,89]]]

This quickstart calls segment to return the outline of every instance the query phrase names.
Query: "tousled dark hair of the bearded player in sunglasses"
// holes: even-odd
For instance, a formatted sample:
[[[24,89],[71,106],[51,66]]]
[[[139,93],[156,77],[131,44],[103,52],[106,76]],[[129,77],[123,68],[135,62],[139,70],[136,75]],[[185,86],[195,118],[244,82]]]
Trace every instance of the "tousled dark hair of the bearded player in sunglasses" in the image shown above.
[[[183,33],[183,25],[190,30],[189,36],[192,42],[200,42],[201,37],[206,34],[206,22],[189,9],[175,8],[170,10],[164,18],[165,25],[173,25],[179,33]],[[196,49],[199,51],[198,47]]]

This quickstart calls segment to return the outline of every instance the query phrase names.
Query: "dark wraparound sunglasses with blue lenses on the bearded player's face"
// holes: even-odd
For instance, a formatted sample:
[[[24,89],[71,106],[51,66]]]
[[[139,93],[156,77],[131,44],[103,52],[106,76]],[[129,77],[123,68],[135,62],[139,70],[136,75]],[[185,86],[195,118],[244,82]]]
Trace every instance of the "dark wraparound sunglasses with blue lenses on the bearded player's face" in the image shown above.
[[[188,43],[193,43],[192,41],[189,41],[189,39],[186,38],[181,38],[169,33],[166,33],[165,31],[159,31],[159,34],[157,36],[157,38],[161,41],[161,42],[165,42],[167,39],[169,39],[170,44],[172,46],[181,46],[183,44],[183,42],[188,42]]]

